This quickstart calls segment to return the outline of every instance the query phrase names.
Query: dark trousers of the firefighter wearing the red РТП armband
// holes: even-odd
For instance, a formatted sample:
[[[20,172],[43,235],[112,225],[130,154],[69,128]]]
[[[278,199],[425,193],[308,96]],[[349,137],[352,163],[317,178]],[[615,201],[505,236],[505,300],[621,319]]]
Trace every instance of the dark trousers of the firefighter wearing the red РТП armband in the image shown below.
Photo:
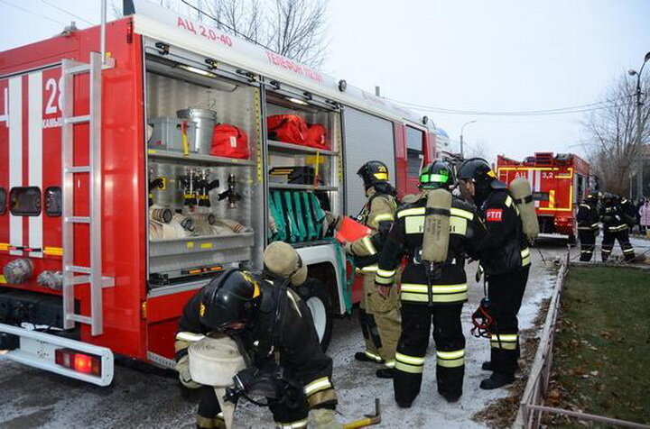
[[[495,372],[512,376],[519,367],[519,321],[517,313],[530,265],[487,278],[487,297],[494,308],[494,329],[490,337],[490,361]]]

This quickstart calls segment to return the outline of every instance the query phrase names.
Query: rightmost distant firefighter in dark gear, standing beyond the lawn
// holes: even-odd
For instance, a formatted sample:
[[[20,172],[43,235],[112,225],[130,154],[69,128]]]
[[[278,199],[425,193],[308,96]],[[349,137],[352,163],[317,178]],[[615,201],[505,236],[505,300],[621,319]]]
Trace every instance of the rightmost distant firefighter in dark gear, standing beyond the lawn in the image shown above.
[[[629,225],[624,212],[625,206],[622,200],[615,195],[606,193],[603,196],[603,204],[600,207],[600,220],[603,224],[603,241],[600,248],[600,256],[603,262],[608,260],[614,249],[614,241],[617,240],[623,251],[625,260],[635,260],[635,252],[629,242]]]

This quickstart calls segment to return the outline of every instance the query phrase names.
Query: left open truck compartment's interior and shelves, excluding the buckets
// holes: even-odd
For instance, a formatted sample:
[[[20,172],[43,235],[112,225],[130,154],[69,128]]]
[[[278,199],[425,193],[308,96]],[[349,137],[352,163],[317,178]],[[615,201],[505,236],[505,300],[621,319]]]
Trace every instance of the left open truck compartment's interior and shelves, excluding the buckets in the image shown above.
[[[233,124],[246,132],[250,150],[249,159],[244,160],[169,148],[158,150],[149,144],[149,183],[162,179],[162,185],[149,189],[152,207],[170,209],[175,228],[147,220],[150,288],[186,284],[212,276],[215,271],[247,264],[254,256],[255,229],[261,233],[255,219],[262,219],[264,213],[264,207],[255,204],[257,187],[253,186],[252,176],[261,140],[258,88],[216,73],[197,73],[197,68],[153,55],[147,56],[145,69],[146,117],[150,126],[161,123],[161,118],[173,121],[183,109],[209,109],[216,112],[217,123]],[[218,180],[218,186],[206,192],[209,203],[188,204],[190,176],[195,181],[206,178],[206,183],[216,184]],[[234,182],[230,191],[238,195],[232,204],[228,198],[229,180]],[[193,226],[183,224],[187,227],[179,232],[176,218],[179,223],[191,221]]]

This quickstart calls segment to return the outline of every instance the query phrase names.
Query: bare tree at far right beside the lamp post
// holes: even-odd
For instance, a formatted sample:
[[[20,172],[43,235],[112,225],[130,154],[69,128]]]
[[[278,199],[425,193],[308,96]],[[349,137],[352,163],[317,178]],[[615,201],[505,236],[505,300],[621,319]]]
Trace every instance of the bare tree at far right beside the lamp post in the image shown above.
[[[650,88],[650,78],[642,82],[641,101],[645,103],[641,110],[641,142],[636,141],[636,81],[629,78],[620,78],[610,87],[604,104],[593,110],[583,123],[591,168],[609,192],[628,194],[630,175],[644,144],[650,141],[647,88]]]

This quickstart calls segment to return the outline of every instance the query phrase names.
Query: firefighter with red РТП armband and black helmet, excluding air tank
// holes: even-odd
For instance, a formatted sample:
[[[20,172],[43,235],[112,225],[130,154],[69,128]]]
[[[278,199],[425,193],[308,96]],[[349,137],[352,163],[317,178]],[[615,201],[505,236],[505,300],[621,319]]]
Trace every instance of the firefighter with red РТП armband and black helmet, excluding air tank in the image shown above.
[[[500,388],[515,380],[519,357],[517,313],[524,297],[531,255],[525,241],[522,221],[505,183],[486,160],[465,160],[459,167],[461,193],[478,207],[478,215],[487,228],[487,240],[480,254],[485,270],[487,297],[494,311],[494,330],[490,336],[490,361],[484,370],[492,370],[480,388]]]

